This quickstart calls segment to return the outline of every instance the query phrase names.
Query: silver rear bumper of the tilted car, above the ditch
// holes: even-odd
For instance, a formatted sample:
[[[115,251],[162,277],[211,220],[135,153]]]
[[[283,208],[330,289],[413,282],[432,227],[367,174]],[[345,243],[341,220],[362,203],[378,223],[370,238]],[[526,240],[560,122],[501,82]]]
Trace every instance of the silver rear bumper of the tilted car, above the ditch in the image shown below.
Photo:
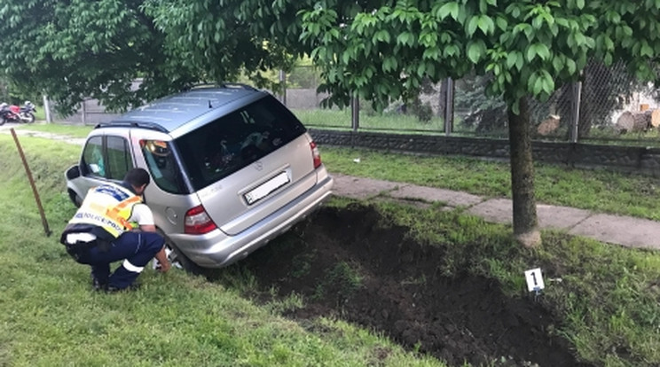
[[[176,234],[170,236],[170,239],[190,260],[201,267],[222,268],[244,259],[318,209],[332,194],[333,184],[334,179],[325,176],[287,206],[281,207],[235,236],[228,236],[222,230],[213,230],[201,236]]]

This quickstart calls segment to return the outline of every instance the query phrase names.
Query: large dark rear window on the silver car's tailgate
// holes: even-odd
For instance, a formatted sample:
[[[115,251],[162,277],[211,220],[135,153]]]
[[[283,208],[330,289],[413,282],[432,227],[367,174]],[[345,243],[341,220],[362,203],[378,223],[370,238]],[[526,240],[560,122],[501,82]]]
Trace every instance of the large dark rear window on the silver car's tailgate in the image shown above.
[[[287,107],[267,96],[177,138],[175,144],[190,183],[200,190],[305,131]]]

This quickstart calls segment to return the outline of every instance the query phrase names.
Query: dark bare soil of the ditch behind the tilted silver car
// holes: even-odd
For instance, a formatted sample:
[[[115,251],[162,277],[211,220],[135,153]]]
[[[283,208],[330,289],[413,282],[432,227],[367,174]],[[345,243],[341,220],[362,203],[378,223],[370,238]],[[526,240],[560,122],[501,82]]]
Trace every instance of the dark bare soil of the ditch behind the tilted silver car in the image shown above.
[[[566,340],[549,336],[560,321],[532,297],[508,298],[483,277],[443,277],[441,248],[379,220],[370,207],[323,208],[240,267],[264,291],[305,296],[306,306],[288,317],[339,317],[450,365],[587,365]]]

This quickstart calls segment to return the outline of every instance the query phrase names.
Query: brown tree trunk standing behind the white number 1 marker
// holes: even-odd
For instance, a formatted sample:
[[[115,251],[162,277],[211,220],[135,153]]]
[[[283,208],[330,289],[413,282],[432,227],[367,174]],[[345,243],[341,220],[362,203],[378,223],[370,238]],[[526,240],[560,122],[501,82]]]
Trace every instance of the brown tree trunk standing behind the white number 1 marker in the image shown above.
[[[511,190],[514,198],[514,236],[526,247],[541,244],[534,197],[534,165],[531,158],[530,113],[526,98],[520,98],[520,112],[508,107],[511,147]]]

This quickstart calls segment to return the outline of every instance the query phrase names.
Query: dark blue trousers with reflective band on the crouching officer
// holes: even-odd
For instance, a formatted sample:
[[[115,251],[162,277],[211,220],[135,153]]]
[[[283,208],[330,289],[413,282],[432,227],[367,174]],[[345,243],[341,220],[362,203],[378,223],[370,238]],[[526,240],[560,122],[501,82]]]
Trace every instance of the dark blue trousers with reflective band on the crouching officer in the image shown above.
[[[107,251],[97,246],[83,254],[79,262],[89,264],[91,276],[102,285],[123,289],[133,284],[146,264],[161,251],[165,239],[154,232],[124,232],[115,239]],[[110,263],[121,261],[117,269],[110,274]]]

